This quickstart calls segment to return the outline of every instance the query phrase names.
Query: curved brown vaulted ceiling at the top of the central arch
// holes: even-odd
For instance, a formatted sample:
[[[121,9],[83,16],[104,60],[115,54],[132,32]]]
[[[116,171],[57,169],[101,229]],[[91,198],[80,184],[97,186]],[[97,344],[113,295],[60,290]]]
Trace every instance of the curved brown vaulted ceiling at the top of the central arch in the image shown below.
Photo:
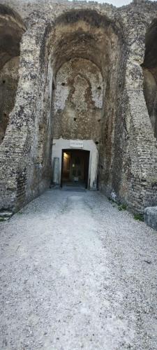
[[[48,43],[54,75],[64,62],[75,57],[89,59],[104,75],[106,60],[110,59],[107,50],[114,45],[113,36],[122,38],[119,27],[97,10],[75,9],[59,15]]]

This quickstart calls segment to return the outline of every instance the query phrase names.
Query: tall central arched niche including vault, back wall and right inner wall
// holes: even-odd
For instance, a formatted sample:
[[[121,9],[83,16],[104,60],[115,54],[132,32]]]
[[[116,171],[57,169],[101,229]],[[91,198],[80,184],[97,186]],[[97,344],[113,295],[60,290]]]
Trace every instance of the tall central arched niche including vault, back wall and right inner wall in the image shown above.
[[[112,18],[101,15],[97,10],[88,9],[70,10],[56,18],[52,33],[50,33],[47,40],[47,52],[53,71],[53,137],[94,140],[100,160],[99,181],[102,183],[102,187],[104,183],[111,183],[113,172],[115,172],[113,176],[117,177],[118,167],[117,190],[119,190],[118,186],[121,180],[123,150],[120,150],[121,156],[115,166],[113,158],[117,159],[117,155],[114,157],[114,153],[121,148],[119,140],[121,140],[123,125],[119,127],[119,123],[123,123],[123,118],[121,118],[120,111],[120,96],[124,88],[125,76],[125,72],[121,73],[121,69],[125,66],[125,47],[124,36],[119,23]],[[73,70],[73,64],[70,66],[71,63],[80,62],[81,67],[83,61],[89,62],[89,67],[95,66],[101,76],[101,81],[95,84],[96,94],[102,96],[101,104],[98,107],[93,104],[92,112],[89,107],[87,113],[83,111],[84,106],[87,106],[87,95],[89,97],[88,102],[90,102],[88,106],[94,102],[91,101],[90,78],[87,79],[79,73],[75,76],[73,83],[70,83],[70,71]],[[87,71],[90,72],[90,68]],[[67,72],[69,72],[68,75],[66,74],[66,77],[64,77],[63,74]],[[62,75],[62,77],[59,78],[59,75]],[[81,88],[83,82],[84,87]],[[71,84],[70,91],[69,83]],[[82,89],[82,94],[80,93],[82,114],[80,111],[76,113],[79,105],[79,103],[77,103],[77,106],[75,105],[75,94],[79,91],[78,85]],[[85,94],[84,90],[86,90]],[[74,97],[74,99],[71,97]],[[56,102],[58,106],[56,106]],[[88,113],[90,113],[90,117]],[[93,117],[91,116],[92,113]],[[118,118],[121,118],[120,122],[117,114]],[[116,123],[118,126],[115,137]],[[68,130],[70,130],[70,133],[68,133]]]

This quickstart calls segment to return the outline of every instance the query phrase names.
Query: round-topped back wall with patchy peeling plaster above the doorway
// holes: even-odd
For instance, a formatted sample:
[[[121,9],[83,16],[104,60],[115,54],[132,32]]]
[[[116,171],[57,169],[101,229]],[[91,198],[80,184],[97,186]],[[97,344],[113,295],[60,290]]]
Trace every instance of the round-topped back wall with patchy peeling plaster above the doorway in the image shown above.
[[[103,78],[96,64],[73,59],[57,72],[54,90],[54,139],[100,141]]]

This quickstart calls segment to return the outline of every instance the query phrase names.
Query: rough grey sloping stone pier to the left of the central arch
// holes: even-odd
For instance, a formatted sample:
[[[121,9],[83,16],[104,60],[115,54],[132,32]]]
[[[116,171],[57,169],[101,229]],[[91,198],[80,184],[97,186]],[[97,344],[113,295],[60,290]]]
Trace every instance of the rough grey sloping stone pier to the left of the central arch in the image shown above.
[[[36,31],[30,28],[22,37],[15,108],[10,113],[0,146],[2,209],[17,210],[50,184],[50,155],[49,152],[43,155],[47,170],[43,167],[38,148],[40,118],[44,118],[46,109],[48,119],[47,106],[50,104],[51,108],[51,102],[47,102],[51,92],[48,91],[47,97],[43,98],[46,90],[43,81],[48,83],[50,79],[45,58],[45,36],[47,29],[40,22]]]

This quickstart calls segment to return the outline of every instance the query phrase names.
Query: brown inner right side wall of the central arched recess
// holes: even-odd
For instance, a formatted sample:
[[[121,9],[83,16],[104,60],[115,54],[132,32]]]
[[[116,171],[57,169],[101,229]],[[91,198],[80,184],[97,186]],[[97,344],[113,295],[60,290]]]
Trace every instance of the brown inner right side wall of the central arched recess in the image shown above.
[[[119,197],[126,150],[123,102],[127,45],[123,31],[110,33],[109,37],[111,41],[105,66],[106,87],[101,120],[99,188],[109,197],[113,191]]]

